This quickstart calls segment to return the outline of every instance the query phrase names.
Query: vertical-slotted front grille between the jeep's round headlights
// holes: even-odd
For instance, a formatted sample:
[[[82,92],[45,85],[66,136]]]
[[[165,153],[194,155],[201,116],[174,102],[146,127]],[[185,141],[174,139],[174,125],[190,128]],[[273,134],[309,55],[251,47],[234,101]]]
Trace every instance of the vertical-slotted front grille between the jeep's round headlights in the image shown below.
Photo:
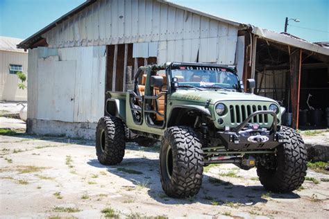
[[[267,110],[266,105],[230,105],[230,122],[231,123],[242,123],[249,115],[253,112],[260,110]],[[253,116],[251,119],[252,123],[258,124],[267,124],[268,123],[268,115],[260,114],[258,116]]]

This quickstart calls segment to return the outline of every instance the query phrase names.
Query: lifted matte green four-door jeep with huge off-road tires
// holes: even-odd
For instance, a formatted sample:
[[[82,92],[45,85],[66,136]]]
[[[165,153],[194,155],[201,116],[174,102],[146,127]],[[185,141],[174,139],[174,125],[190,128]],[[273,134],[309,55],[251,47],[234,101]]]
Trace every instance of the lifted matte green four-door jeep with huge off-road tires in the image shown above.
[[[234,67],[171,62],[140,67],[133,90],[108,91],[106,114],[96,128],[96,155],[119,164],[127,141],[161,140],[162,189],[174,198],[196,195],[203,166],[256,167],[270,191],[303,184],[307,155],[303,139],[281,125],[285,111],[275,100],[247,89]]]

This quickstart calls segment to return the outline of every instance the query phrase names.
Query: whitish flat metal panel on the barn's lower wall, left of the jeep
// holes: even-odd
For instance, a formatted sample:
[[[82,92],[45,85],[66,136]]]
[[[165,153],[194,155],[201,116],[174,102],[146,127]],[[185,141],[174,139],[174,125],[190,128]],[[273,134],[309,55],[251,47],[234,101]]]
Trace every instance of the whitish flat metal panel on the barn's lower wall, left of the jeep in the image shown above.
[[[28,94],[29,119],[96,122],[103,116],[106,46],[62,48],[56,52],[47,52],[44,48],[30,51],[29,63],[33,77],[28,86],[35,89],[29,90]],[[58,55],[54,55],[56,53]],[[40,78],[42,80],[39,80]],[[46,91],[46,87],[56,87],[57,91]],[[72,91],[62,94],[60,89]],[[46,98],[49,98],[50,102]],[[69,105],[72,107],[68,107]],[[69,116],[70,114],[72,116]]]

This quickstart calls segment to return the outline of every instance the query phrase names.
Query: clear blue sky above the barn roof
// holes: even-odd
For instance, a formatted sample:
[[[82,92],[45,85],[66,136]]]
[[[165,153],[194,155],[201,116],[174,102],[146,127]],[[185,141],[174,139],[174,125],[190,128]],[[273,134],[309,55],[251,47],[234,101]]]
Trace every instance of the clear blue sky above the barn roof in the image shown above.
[[[284,30],[310,42],[329,41],[329,0],[171,0],[218,17]],[[72,10],[84,0],[0,0],[0,35],[26,38]],[[311,30],[312,29],[312,30]]]

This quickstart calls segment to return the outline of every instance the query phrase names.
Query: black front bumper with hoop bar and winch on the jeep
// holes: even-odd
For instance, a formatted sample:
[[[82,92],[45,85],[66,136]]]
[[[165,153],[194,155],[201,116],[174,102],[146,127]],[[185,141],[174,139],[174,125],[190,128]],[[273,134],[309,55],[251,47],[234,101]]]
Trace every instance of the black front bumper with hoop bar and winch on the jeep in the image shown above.
[[[269,114],[273,116],[271,128],[252,128],[249,121],[253,116]],[[255,150],[273,149],[283,141],[283,133],[278,131],[277,117],[271,111],[257,111],[248,116],[245,121],[239,124],[233,131],[217,132],[217,138],[221,139],[226,150]],[[245,128],[246,125],[249,128]],[[257,125],[257,124],[256,124]]]

